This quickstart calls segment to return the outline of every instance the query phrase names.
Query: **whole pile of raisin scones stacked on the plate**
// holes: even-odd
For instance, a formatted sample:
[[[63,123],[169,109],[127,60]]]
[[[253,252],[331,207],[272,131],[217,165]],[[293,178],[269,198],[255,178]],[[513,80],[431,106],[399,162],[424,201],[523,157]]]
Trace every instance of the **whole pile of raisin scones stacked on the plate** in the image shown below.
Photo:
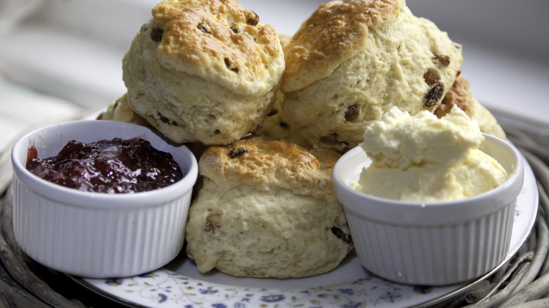
[[[236,0],[168,0],[122,59],[99,120],[141,124],[198,158],[186,252],[198,270],[296,278],[353,250],[332,168],[398,105],[457,105],[505,139],[461,74],[462,46],[404,0],[321,4],[292,36]]]

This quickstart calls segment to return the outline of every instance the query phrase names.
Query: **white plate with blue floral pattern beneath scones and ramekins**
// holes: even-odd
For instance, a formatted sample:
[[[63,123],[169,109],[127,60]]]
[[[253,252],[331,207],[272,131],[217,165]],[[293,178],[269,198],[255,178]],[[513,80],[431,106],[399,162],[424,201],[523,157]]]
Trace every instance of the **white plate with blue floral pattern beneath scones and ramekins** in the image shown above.
[[[507,257],[491,273],[470,283],[436,288],[392,283],[366,271],[354,253],[329,273],[298,279],[236,278],[220,272],[201,274],[184,252],[149,274],[113,279],[72,278],[104,297],[140,307],[426,306],[484,280],[522,246],[538,212],[536,179],[527,162],[525,165],[524,186],[517,198]]]

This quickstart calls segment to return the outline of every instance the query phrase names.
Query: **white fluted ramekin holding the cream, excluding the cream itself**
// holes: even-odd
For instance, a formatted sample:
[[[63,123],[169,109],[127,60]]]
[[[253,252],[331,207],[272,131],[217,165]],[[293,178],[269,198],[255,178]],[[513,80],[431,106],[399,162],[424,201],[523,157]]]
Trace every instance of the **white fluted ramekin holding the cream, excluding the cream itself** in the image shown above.
[[[481,150],[510,179],[465,200],[405,203],[360,193],[349,184],[371,160],[360,147],[343,155],[334,167],[334,186],[366,269],[398,283],[448,285],[482,276],[505,259],[524,162],[512,144],[484,136]]]

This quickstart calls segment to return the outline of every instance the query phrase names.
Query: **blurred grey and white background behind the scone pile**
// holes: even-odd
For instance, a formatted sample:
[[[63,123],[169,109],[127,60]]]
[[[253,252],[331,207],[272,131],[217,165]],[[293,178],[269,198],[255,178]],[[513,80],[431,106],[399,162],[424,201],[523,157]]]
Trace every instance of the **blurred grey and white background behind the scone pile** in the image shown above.
[[[293,34],[324,1],[240,0]],[[156,0],[0,0],[0,146],[28,125],[125,93],[122,56]],[[408,0],[463,45],[462,74],[498,120],[549,134],[548,0]]]

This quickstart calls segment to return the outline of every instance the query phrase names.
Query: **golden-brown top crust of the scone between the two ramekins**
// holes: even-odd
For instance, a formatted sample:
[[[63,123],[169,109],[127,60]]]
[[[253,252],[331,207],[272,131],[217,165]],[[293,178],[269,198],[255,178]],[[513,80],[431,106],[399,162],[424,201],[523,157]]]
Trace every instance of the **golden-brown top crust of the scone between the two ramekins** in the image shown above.
[[[293,143],[254,137],[228,146],[211,146],[201,156],[198,169],[222,190],[246,185],[268,191],[276,186],[322,198],[334,193],[332,167],[339,154],[321,151],[319,155],[322,164]]]

